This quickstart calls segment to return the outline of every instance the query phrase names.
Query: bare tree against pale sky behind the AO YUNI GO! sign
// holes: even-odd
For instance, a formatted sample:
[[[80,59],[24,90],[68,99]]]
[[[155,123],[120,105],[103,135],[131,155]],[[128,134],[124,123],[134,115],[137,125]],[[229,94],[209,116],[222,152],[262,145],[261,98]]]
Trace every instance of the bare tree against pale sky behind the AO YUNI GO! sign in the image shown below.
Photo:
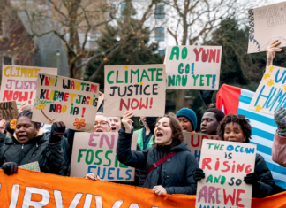
[[[249,4],[237,0],[168,0],[169,34],[177,45],[193,45],[211,38],[221,19],[247,12]],[[186,90],[177,90],[176,111],[184,107]]]

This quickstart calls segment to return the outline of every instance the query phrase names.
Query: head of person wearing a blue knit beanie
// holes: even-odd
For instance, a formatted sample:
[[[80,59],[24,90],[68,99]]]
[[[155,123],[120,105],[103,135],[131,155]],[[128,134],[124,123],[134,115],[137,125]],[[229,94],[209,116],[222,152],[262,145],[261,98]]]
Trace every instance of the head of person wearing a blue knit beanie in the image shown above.
[[[183,132],[193,132],[197,127],[197,115],[192,109],[182,108],[176,114],[177,119],[180,121]]]

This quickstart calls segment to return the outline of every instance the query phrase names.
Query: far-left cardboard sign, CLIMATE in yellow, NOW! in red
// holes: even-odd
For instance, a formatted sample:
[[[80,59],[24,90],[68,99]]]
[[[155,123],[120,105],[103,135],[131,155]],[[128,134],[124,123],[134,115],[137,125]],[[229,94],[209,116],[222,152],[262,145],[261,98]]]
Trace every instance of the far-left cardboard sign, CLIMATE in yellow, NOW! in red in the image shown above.
[[[38,73],[57,74],[56,68],[3,65],[1,101],[16,101],[17,105],[34,104]]]

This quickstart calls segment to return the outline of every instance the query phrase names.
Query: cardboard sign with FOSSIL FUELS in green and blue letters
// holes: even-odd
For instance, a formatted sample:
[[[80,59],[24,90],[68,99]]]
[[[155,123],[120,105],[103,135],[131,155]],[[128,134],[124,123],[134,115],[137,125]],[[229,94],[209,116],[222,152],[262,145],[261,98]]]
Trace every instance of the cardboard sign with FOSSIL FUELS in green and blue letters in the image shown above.
[[[135,168],[117,159],[118,133],[75,133],[71,156],[71,176],[82,178],[94,173],[104,181],[134,181]],[[136,150],[137,133],[132,136]]]

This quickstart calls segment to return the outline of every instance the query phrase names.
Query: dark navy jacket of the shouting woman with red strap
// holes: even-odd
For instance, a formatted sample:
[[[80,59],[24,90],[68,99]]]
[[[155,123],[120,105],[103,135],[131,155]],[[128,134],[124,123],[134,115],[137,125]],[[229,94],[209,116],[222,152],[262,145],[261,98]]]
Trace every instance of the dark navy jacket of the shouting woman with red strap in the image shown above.
[[[158,161],[158,150],[152,147],[143,151],[132,151],[132,134],[126,133],[124,127],[119,130],[117,158],[126,166],[148,170]],[[169,150],[169,152],[172,151],[176,151],[177,154],[162,163],[162,187],[168,194],[195,195],[197,183],[194,181],[194,173],[196,167],[199,167],[197,160],[186,143],[181,143]],[[159,168],[155,168],[147,175],[143,187],[153,189],[158,185],[158,179]]]

